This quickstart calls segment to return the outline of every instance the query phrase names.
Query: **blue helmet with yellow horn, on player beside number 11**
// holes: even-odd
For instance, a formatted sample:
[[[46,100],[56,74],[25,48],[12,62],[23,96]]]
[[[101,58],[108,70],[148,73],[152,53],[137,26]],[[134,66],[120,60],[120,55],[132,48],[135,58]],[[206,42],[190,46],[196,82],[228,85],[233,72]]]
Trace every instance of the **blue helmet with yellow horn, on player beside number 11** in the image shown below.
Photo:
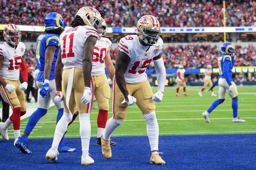
[[[57,12],[50,12],[45,16],[45,30],[61,28],[65,29],[65,21],[63,17]]]

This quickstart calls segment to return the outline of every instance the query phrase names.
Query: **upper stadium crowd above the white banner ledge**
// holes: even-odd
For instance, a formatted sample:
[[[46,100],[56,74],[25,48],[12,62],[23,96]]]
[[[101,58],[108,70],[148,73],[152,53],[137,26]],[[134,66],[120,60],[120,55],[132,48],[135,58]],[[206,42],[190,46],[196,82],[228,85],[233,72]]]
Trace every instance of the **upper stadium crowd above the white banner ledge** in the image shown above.
[[[223,26],[219,0],[2,0],[0,23],[43,25],[44,16],[55,11],[70,25],[83,6],[97,8],[109,27],[134,27],[149,11],[161,27]],[[226,0],[226,11],[227,26],[256,26],[256,1]]]

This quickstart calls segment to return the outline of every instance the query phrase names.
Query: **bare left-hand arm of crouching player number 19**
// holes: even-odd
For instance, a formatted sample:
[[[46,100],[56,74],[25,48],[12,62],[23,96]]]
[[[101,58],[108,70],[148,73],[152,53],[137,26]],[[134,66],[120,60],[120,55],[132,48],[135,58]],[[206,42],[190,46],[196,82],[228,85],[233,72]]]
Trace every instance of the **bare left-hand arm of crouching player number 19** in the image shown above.
[[[126,88],[126,83],[124,79],[125,71],[127,70],[128,64],[130,62],[130,58],[124,52],[119,51],[116,59],[116,83],[117,86],[120,88],[121,92],[124,95],[125,101],[129,101],[128,95],[129,92]]]

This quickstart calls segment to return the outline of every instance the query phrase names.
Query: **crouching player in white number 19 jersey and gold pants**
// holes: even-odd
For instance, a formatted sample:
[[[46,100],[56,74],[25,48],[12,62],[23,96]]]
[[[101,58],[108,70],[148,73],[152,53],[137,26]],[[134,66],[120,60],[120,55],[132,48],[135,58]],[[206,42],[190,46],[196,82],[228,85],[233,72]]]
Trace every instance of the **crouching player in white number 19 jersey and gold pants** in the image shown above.
[[[106,124],[101,136],[102,154],[111,158],[110,135],[127,114],[128,106],[137,104],[147,123],[147,134],[151,147],[150,162],[165,164],[158,153],[159,127],[155,115],[155,102],[163,99],[166,71],[161,57],[163,40],[159,21],[152,15],[142,16],[137,23],[137,35],[128,35],[118,44],[116,72],[112,86],[113,116]],[[146,68],[153,60],[157,70],[158,91],[153,94],[147,80]]]

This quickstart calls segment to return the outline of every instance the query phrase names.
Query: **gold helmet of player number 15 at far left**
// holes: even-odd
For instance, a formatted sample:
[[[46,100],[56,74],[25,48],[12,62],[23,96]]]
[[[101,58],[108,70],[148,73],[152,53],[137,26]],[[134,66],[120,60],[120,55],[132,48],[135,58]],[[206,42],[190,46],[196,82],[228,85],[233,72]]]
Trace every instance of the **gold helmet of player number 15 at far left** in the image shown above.
[[[14,46],[18,45],[21,40],[21,33],[15,24],[5,25],[3,35],[5,41],[11,43]]]

